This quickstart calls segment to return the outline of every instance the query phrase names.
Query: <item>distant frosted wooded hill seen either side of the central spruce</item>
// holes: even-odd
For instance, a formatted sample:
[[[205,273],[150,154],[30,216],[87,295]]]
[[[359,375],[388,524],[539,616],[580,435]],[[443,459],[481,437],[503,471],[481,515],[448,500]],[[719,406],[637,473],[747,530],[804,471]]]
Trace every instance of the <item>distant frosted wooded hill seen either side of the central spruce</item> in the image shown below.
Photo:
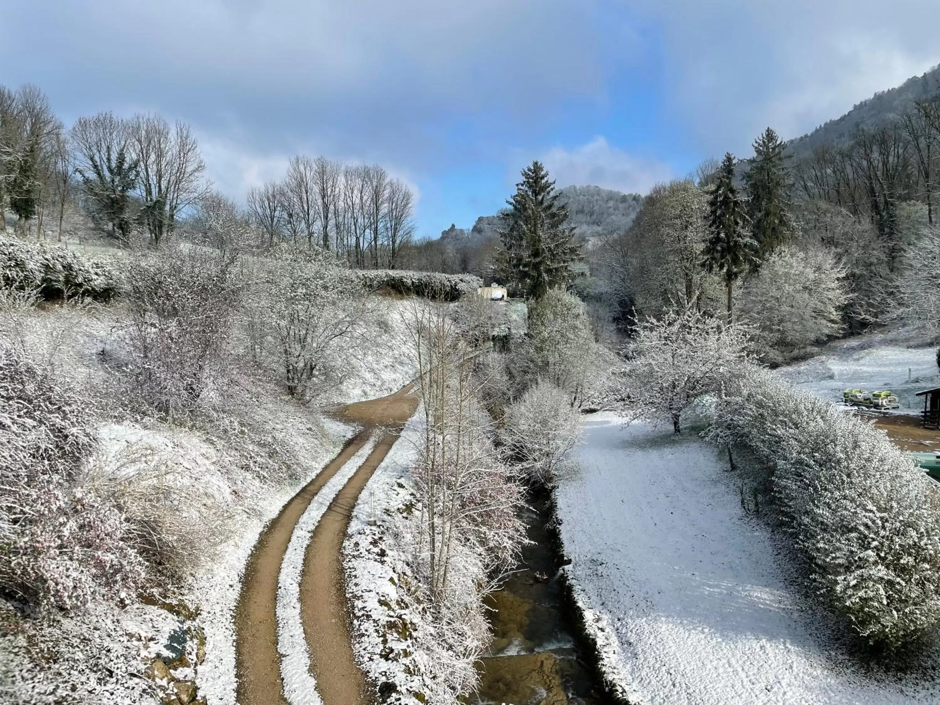
[[[568,206],[569,224],[576,235],[584,238],[623,232],[643,205],[639,194],[621,194],[600,186],[566,186],[558,189],[558,194]],[[441,240],[452,245],[475,245],[497,237],[497,227],[497,215],[481,215],[470,230],[451,226],[441,233]]]

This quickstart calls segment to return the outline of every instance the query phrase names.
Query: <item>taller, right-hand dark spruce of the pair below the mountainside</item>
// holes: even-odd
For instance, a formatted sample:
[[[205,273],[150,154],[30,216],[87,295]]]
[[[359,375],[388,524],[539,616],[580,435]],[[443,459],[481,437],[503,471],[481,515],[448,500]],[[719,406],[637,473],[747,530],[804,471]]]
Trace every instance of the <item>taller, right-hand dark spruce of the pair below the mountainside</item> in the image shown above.
[[[758,243],[756,265],[785,243],[792,232],[786,147],[777,133],[767,128],[754,141],[754,163],[744,175],[747,216]]]

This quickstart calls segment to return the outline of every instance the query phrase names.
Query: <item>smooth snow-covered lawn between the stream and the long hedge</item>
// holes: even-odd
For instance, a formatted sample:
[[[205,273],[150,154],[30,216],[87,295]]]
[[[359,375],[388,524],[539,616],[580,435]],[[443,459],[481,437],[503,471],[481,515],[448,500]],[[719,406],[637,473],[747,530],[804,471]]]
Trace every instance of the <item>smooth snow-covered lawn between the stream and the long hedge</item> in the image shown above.
[[[712,447],[599,414],[576,455],[556,491],[565,570],[631,702],[940,701],[940,685],[863,673],[831,642]]]

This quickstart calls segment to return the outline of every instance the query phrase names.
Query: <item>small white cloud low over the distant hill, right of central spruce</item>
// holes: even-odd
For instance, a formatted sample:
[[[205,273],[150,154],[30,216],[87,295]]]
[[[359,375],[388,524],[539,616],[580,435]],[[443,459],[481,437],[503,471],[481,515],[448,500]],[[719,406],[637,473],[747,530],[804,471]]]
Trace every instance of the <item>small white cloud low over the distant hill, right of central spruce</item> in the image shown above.
[[[592,185],[625,194],[646,194],[654,184],[673,177],[666,164],[611,147],[603,136],[572,150],[550,149],[541,161],[559,187]]]

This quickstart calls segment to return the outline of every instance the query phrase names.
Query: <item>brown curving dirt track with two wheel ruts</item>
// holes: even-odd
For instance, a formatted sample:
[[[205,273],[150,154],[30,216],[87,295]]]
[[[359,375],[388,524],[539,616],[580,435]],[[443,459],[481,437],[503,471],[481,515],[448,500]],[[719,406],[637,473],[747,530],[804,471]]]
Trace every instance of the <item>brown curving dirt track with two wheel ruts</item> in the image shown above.
[[[268,525],[245,567],[235,612],[235,668],[240,705],[287,705],[277,653],[277,577],[294,525],[326,482],[361,448],[373,431],[382,439],[330,504],[311,537],[301,578],[301,614],[312,671],[324,705],[365,705],[363,677],[352,657],[349,612],[343,587],[342,541],[352,507],[414,414],[412,384],[382,399],[343,407],[337,416],[365,426],[316,478],[295,494]]]

